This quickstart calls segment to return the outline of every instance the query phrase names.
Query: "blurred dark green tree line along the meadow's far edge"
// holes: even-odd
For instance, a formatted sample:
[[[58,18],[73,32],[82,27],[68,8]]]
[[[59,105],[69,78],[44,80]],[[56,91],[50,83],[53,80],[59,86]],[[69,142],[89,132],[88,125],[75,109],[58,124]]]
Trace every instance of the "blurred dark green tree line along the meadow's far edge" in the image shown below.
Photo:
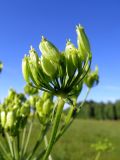
[[[98,119],[98,120],[119,120],[120,119],[120,100],[116,102],[95,102],[87,101],[81,109],[78,118]]]

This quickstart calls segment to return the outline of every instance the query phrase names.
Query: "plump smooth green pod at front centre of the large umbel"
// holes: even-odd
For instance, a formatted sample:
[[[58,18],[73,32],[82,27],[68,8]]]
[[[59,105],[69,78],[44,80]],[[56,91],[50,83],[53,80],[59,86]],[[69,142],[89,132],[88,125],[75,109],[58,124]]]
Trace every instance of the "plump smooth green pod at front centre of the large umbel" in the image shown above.
[[[41,57],[41,66],[43,69],[43,72],[53,78],[57,72],[57,64],[50,62],[47,58]]]

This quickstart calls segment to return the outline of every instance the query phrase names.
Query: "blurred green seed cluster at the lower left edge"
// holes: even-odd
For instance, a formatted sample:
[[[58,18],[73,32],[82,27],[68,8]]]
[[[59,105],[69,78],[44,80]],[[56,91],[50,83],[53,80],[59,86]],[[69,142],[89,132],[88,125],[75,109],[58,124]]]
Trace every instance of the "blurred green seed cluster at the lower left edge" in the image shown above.
[[[8,132],[16,136],[20,129],[24,128],[30,114],[30,105],[24,94],[17,94],[9,90],[8,97],[0,104],[0,128],[4,135]]]

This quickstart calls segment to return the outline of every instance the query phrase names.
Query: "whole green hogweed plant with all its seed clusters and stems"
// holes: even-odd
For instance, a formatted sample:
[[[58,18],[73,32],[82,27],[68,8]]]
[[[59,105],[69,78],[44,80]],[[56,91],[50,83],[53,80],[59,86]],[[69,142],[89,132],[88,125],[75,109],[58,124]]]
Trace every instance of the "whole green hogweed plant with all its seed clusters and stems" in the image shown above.
[[[76,32],[77,48],[68,40],[65,50],[60,52],[42,37],[41,57],[31,47],[29,55],[23,58],[27,98],[11,90],[0,109],[1,134],[7,142],[6,146],[0,143],[4,159],[51,160],[53,146],[79,114],[90,89],[98,83],[98,68],[91,71],[92,53],[84,28],[79,25]],[[88,91],[78,105],[84,84]],[[66,103],[69,105],[67,114],[64,112]],[[39,123],[37,136],[35,122]],[[32,132],[35,143],[31,146]]]

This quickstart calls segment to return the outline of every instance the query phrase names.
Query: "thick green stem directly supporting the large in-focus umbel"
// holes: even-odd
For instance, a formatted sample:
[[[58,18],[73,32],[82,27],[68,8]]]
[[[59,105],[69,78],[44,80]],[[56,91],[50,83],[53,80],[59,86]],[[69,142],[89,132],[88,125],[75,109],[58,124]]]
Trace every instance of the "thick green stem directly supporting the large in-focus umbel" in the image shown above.
[[[43,160],[47,160],[47,158],[48,158],[48,156],[49,156],[49,154],[52,150],[54,140],[55,140],[55,137],[56,137],[56,134],[57,134],[59,122],[60,122],[60,119],[61,119],[61,114],[62,114],[63,107],[64,107],[64,100],[62,98],[59,98],[58,99],[58,105],[57,105],[57,112],[56,112],[56,115],[55,115],[55,120],[54,120],[54,124],[53,124],[53,128],[52,128],[50,141],[49,141],[46,153],[43,157]]]

